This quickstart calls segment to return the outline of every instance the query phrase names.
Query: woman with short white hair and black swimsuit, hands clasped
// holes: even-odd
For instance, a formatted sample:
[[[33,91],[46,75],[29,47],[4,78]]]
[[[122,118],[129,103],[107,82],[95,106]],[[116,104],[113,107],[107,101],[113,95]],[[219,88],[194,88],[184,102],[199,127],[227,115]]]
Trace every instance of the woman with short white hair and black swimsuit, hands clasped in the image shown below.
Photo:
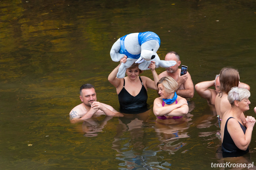
[[[243,111],[249,110],[250,92],[234,87],[228,92],[231,109],[226,111],[221,123],[222,151],[228,153],[247,153],[251,142],[255,118],[247,116],[242,120]]]

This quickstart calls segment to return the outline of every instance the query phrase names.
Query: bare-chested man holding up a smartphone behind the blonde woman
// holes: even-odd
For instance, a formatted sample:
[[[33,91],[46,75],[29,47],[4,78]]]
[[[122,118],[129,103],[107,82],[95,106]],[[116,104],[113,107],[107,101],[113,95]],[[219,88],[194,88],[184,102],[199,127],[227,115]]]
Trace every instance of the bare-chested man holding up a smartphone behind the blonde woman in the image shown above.
[[[185,75],[180,75],[181,69],[179,69],[179,66],[181,64],[181,61],[179,60],[179,54],[170,51],[165,56],[165,61],[176,61],[177,64],[175,64],[172,67],[166,68],[166,71],[162,72],[158,75],[159,78],[170,76],[174,78],[174,80],[178,83],[178,87],[176,90],[177,95],[183,97],[183,98],[193,98],[194,96],[194,85],[191,79],[190,74],[187,72]]]

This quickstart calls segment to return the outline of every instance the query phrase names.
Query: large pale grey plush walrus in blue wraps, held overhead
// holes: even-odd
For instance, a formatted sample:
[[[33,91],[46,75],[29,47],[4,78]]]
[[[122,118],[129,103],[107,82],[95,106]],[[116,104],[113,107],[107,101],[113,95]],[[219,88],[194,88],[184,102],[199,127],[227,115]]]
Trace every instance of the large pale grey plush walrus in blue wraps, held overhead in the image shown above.
[[[155,61],[156,68],[174,66],[176,61],[160,60],[156,54],[159,47],[160,38],[153,32],[131,33],[119,38],[111,48],[111,59],[118,62],[126,55],[127,61],[120,65],[117,78],[124,78],[126,69],[134,62],[141,63],[141,70],[149,69],[151,61]]]

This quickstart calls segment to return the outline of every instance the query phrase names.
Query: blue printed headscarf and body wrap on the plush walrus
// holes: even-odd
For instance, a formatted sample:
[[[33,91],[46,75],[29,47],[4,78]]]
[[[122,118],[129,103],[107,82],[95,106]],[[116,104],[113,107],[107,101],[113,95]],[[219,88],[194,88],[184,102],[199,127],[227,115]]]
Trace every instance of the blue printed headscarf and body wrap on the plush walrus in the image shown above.
[[[128,34],[129,35],[129,34]],[[138,59],[140,57],[140,54],[137,55],[133,55],[130,54],[126,48],[125,48],[125,37],[127,35],[123,36],[120,38],[120,44],[121,44],[121,48],[119,50],[120,54],[125,54],[128,58],[132,58],[132,59]],[[149,40],[156,40],[159,43],[160,46],[160,38],[158,37],[158,35],[156,33],[153,32],[144,32],[144,33],[139,33],[138,35],[138,41],[139,41],[139,45],[141,46],[141,44],[149,41]]]

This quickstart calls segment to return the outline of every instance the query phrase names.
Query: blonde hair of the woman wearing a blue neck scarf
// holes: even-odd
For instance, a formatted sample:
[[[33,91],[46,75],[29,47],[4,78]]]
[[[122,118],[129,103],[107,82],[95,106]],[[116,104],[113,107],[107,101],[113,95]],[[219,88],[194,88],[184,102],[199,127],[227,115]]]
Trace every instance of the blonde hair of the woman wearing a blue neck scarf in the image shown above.
[[[160,80],[157,82],[157,87],[158,84],[163,85],[163,88],[167,95],[174,93],[178,87],[178,83],[170,76],[160,78]]]

